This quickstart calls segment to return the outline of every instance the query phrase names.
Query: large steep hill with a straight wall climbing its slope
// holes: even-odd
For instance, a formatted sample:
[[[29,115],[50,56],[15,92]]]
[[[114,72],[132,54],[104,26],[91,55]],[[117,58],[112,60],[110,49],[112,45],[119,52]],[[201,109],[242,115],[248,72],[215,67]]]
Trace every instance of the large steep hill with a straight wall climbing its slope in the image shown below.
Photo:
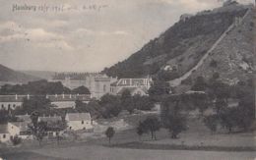
[[[253,64],[253,12],[251,6],[231,3],[196,15],[184,14],[158,38],[102,73],[141,78],[165,71],[175,84],[195,76],[212,77],[215,72],[224,79],[244,76],[241,72],[251,72]]]

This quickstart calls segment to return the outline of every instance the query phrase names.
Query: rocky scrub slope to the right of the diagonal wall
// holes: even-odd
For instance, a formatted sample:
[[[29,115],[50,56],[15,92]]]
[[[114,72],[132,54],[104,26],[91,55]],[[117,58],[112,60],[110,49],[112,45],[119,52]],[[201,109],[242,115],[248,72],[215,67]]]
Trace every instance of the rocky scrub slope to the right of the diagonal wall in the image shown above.
[[[191,78],[198,76],[210,79],[214,73],[219,73],[226,82],[235,82],[248,78],[253,72],[254,62],[254,21],[255,11],[249,11],[244,20],[233,27],[222,42],[195,71]],[[217,67],[211,67],[212,61],[217,61]]]

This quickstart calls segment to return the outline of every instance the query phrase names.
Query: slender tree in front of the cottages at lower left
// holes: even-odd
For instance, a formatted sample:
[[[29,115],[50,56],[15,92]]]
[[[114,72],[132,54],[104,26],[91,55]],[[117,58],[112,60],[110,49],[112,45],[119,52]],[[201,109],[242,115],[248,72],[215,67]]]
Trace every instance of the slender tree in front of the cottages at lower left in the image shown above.
[[[29,125],[29,128],[31,129],[32,134],[35,136],[36,140],[39,142],[39,145],[41,145],[41,141],[46,135],[47,124],[45,122],[38,122],[38,117],[38,112],[32,112],[32,124]]]

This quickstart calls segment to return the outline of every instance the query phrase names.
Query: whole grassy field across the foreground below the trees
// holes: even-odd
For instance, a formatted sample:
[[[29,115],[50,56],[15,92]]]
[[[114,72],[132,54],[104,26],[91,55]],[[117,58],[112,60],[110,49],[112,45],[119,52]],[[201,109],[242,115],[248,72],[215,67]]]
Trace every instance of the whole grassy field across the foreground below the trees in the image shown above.
[[[125,121],[136,124],[138,117],[132,116]],[[42,147],[22,147],[0,157],[16,159],[81,159],[81,160],[187,160],[187,159],[224,159],[254,160],[255,133],[216,133],[211,134],[199,120],[188,122],[189,130],[180,138],[171,139],[169,133],[161,129],[158,140],[151,140],[150,134],[139,136],[135,129],[115,133],[108,139],[99,137],[85,141],[61,142],[60,145],[44,144]]]

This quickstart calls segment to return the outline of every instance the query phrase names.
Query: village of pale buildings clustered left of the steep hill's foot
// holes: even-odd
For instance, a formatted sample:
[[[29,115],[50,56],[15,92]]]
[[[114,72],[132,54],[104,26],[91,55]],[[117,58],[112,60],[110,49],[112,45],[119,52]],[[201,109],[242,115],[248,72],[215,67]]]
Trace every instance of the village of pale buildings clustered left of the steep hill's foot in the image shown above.
[[[92,74],[93,75],[93,74]],[[112,79],[106,76],[96,74],[90,75],[84,80],[76,80],[73,78],[66,78],[60,80],[64,86],[74,89],[79,87],[88,87],[90,92],[87,94],[70,93],[70,94],[46,94],[46,95],[0,95],[1,110],[12,114],[18,108],[23,107],[24,100],[31,100],[34,97],[43,97],[50,101],[50,104],[57,110],[75,109],[76,101],[89,103],[92,99],[100,99],[105,94],[122,95],[125,90],[129,90],[131,95],[148,96],[148,90],[151,87],[151,79]],[[57,76],[52,81],[56,80]],[[59,136],[69,136],[69,133],[104,133],[106,127],[100,126],[92,118],[91,114],[86,112],[66,113],[62,115],[41,115],[38,116],[37,124],[44,122],[48,126],[45,132],[47,138],[58,138]],[[0,126],[0,141],[11,144],[14,138],[21,138],[23,140],[34,139],[30,125],[32,125],[32,115],[28,113],[25,115],[15,115],[15,122],[7,122]],[[64,123],[64,124],[63,124]],[[120,124],[118,126],[118,123]],[[117,122],[117,128],[125,127],[124,122]],[[105,125],[107,126],[107,125]],[[102,128],[102,129],[101,129]],[[119,130],[119,129],[118,129]],[[95,132],[94,132],[95,131]],[[72,135],[72,134],[71,134]],[[70,136],[71,136],[70,135]]]

